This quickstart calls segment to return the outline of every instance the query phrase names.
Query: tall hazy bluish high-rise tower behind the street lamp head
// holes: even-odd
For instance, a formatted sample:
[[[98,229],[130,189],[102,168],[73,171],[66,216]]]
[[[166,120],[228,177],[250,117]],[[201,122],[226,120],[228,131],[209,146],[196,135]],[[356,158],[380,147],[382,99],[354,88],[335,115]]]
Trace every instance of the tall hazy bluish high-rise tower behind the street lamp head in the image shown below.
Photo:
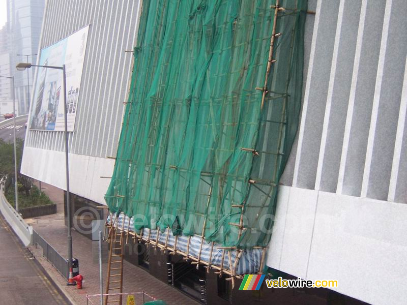
[[[42,17],[44,14],[44,0],[7,0],[8,33],[10,39],[9,60],[12,75],[15,76],[16,100],[19,114],[28,112],[33,71],[28,69],[24,73],[17,73],[14,68],[19,62],[36,63],[40,40]],[[17,54],[30,55],[17,56]],[[28,79],[27,79],[28,78]]]

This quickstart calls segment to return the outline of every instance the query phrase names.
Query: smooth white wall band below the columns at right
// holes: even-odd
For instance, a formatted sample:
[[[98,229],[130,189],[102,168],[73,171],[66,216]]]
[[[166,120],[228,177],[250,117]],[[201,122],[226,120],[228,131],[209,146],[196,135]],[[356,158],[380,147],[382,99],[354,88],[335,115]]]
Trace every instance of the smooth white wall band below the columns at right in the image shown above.
[[[407,298],[407,205],[281,187],[267,265],[373,304]]]

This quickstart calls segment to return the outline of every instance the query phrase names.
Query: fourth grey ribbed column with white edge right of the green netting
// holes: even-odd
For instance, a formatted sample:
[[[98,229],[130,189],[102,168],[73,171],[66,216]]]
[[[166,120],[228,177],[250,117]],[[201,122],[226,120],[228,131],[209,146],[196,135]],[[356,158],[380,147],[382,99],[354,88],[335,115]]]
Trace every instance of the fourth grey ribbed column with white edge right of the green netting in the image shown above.
[[[407,20],[403,15],[406,10],[407,3],[403,0],[388,0],[386,3],[362,197],[388,198],[404,74],[402,68],[407,53]]]

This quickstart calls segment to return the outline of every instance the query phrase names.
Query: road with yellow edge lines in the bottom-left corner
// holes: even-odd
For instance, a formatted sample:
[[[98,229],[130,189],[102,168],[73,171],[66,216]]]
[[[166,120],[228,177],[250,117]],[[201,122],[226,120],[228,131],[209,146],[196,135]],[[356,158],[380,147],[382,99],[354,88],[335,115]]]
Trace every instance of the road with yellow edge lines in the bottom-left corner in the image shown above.
[[[0,214],[0,305],[71,304]]]

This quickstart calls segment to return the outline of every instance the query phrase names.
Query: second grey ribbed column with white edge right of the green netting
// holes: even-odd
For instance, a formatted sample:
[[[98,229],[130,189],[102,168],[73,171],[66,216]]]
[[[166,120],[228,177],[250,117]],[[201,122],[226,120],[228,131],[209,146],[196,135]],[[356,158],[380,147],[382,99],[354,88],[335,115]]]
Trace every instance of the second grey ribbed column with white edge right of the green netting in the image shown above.
[[[341,1],[334,55],[319,150],[315,189],[335,192],[340,166],[347,101],[356,50],[361,2]]]

